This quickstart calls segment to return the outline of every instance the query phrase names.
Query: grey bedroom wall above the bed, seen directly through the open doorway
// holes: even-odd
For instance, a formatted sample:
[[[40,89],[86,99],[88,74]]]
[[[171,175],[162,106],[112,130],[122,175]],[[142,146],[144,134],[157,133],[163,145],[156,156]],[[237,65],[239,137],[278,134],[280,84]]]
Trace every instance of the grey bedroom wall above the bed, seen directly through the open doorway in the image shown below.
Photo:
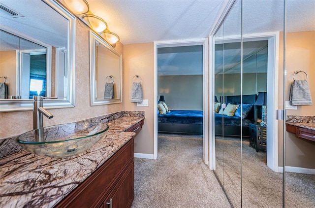
[[[158,76],[158,98],[175,110],[203,110],[202,75]]]

